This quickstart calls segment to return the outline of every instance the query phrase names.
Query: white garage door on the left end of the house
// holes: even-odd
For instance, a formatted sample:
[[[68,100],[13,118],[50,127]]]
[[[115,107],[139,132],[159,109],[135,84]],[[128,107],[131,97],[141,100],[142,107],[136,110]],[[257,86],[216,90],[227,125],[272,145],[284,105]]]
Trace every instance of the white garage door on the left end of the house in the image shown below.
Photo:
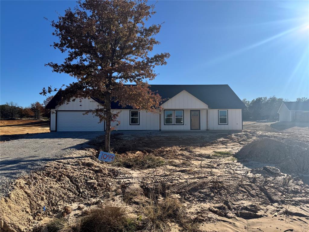
[[[104,122],[85,111],[58,111],[57,131],[104,131]]]

